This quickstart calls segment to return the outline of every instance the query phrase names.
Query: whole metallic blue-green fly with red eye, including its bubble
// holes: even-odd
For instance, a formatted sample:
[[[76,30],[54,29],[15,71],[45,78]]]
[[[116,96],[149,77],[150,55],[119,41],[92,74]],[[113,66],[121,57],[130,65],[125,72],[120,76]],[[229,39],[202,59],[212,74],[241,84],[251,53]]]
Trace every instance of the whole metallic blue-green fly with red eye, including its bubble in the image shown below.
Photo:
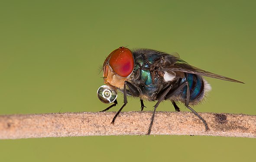
[[[117,105],[117,90],[123,92],[124,101],[113,117],[112,124],[128,103],[129,95],[140,98],[141,111],[145,107],[143,100],[157,101],[147,135],[151,132],[156,108],[164,100],[170,100],[175,111],[180,111],[176,102],[184,103],[203,121],[205,130],[209,129],[204,119],[190,107],[200,103],[211,90],[210,84],[202,76],[243,82],[191,66],[176,55],[144,48],[130,51],[124,47],[117,48],[108,55],[103,64],[105,85],[98,89],[98,98],[104,103],[113,103],[103,111]]]

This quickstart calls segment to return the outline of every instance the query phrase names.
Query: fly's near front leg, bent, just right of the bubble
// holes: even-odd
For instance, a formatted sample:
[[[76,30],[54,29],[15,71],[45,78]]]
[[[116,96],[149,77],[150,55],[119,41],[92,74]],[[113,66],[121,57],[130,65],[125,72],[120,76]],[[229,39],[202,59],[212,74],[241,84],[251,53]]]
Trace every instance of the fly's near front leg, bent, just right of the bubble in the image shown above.
[[[132,95],[138,97],[139,96],[139,91],[136,89],[135,86],[133,86],[132,83],[125,81],[124,85],[123,85],[123,106],[117,111],[117,114],[114,116],[111,124],[115,123],[115,120],[117,118],[117,116],[120,114],[120,112],[122,111],[123,107],[128,103],[127,102],[127,93],[126,93],[126,86],[129,87],[130,92],[132,93]]]

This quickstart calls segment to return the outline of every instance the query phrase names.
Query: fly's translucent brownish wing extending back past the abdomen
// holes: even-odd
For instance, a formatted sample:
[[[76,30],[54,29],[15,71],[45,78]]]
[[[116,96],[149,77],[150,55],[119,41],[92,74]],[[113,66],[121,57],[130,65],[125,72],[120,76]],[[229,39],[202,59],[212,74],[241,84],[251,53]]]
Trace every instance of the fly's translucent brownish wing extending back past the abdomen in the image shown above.
[[[165,70],[175,71],[175,72],[183,72],[183,73],[191,73],[191,74],[197,74],[200,76],[208,76],[211,78],[226,80],[226,81],[230,81],[230,82],[243,83],[236,79],[232,79],[232,78],[228,78],[226,76],[214,74],[214,73],[199,69],[197,67],[191,66],[184,60],[181,60],[180,58],[177,58],[177,57],[176,57],[176,63],[172,64],[172,66],[165,67]]]

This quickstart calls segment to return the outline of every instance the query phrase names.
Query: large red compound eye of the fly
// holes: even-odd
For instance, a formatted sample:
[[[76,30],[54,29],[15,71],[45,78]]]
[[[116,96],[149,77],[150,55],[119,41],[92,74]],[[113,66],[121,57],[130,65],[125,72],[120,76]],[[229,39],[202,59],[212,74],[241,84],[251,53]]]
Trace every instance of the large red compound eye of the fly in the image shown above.
[[[121,77],[128,77],[134,68],[133,54],[128,48],[120,47],[109,55],[109,65]]]

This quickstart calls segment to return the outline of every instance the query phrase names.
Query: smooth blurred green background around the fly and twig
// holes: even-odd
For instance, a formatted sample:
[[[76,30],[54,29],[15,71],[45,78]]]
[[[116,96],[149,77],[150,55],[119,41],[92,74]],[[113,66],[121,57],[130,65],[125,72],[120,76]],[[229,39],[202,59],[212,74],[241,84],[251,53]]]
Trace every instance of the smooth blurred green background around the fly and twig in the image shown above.
[[[208,78],[213,90],[196,111],[256,115],[255,8],[252,0],[0,0],[0,114],[103,110],[99,68],[127,46],[176,51],[246,83]],[[128,102],[124,111],[139,111],[139,100]],[[174,108],[164,102],[158,110]],[[0,161],[249,162],[255,146],[255,139],[197,136],[0,140]]]

